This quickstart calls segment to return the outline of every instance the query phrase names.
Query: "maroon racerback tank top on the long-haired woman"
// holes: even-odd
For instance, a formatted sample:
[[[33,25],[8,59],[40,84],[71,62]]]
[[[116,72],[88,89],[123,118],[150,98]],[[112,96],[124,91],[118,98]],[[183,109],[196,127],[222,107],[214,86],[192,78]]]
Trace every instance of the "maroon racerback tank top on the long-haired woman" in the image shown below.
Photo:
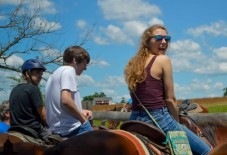
[[[139,100],[148,110],[166,107],[163,81],[153,78],[150,74],[150,69],[156,57],[154,56],[145,68],[147,77],[142,83],[137,83],[135,91]],[[132,110],[141,110],[134,94],[131,92],[130,95],[132,98]]]

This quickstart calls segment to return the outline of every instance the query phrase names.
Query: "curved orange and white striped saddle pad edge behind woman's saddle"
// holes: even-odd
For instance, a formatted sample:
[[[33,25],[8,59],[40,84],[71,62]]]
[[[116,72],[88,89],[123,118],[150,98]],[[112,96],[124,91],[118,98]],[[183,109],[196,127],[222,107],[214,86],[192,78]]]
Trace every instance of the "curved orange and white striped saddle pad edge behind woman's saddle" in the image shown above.
[[[123,130],[111,130],[111,132],[121,135],[121,136],[127,138],[128,140],[130,140],[131,142],[133,142],[133,144],[135,145],[135,147],[138,151],[138,155],[149,155],[150,154],[148,149],[146,148],[146,146],[143,144],[143,142],[139,138],[137,138],[135,135],[133,135],[129,132],[123,131]]]

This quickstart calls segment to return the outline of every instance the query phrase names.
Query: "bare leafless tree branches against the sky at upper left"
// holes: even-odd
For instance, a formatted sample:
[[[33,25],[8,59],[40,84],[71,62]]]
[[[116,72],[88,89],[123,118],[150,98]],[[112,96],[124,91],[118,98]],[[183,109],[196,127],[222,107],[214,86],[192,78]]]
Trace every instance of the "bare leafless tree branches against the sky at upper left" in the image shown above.
[[[10,10],[11,9],[11,10]],[[14,9],[1,9],[1,16],[6,20],[0,25],[0,69],[18,71],[15,67],[7,63],[7,59],[17,55],[28,55],[36,52],[38,58],[42,58],[45,64],[60,64],[61,53],[49,55],[48,60],[44,59],[43,47],[51,49],[54,42],[46,39],[48,35],[57,32],[57,23],[44,19],[40,15],[40,7],[29,10],[26,4],[21,1]],[[10,10],[10,11],[9,11]],[[4,12],[5,11],[5,12]],[[41,49],[42,47],[42,49]],[[46,58],[46,57],[45,57]]]

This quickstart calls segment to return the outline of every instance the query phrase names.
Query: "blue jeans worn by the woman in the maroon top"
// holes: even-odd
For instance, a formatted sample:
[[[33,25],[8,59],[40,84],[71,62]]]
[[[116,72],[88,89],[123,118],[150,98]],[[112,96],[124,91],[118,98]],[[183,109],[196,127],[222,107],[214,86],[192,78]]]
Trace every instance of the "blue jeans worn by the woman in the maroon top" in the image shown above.
[[[150,110],[149,113],[153,116],[153,118],[162,128],[165,134],[168,131],[181,131],[181,129],[184,130],[188,137],[188,141],[193,152],[193,155],[207,155],[211,151],[210,147],[205,142],[203,142],[196,134],[194,134],[185,126],[177,123],[175,119],[173,119],[173,117],[169,114],[167,108]],[[144,110],[132,111],[129,119],[139,120],[155,125],[152,119]]]

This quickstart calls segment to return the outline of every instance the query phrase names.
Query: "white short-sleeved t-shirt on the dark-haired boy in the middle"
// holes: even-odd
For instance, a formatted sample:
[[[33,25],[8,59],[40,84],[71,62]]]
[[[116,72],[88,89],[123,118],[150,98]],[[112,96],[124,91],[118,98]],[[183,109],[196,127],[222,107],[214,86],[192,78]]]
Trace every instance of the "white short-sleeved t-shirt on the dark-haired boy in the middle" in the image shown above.
[[[60,103],[61,90],[63,89],[72,92],[76,106],[82,111],[76,72],[71,66],[59,67],[49,77],[45,88],[47,124],[53,133],[67,135],[78,128],[81,123],[70,115],[66,107]]]

